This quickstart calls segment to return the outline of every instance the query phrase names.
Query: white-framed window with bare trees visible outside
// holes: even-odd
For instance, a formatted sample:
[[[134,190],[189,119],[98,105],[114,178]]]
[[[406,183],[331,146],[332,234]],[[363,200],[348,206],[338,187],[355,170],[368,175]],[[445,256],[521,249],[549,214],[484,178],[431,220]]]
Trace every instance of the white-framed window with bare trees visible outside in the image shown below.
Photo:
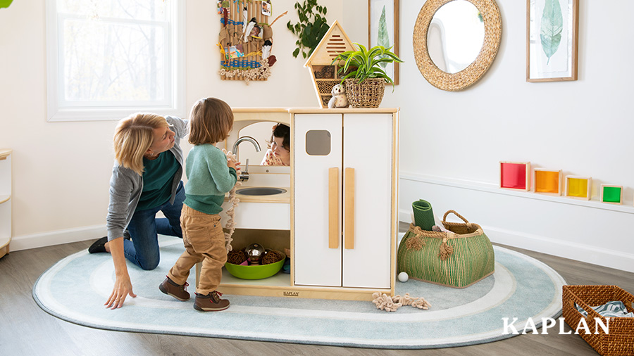
[[[57,0],[58,107],[175,106],[172,1]]]

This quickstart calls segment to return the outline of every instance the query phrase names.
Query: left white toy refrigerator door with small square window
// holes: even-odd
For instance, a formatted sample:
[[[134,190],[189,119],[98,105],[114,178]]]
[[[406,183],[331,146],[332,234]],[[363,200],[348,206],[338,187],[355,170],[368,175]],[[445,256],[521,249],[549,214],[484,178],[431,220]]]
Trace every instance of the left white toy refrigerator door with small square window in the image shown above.
[[[341,234],[329,243],[329,226],[341,231],[341,214],[334,222],[329,214],[341,199],[331,209],[329,186],[341,186],[342,115],[295,114],[292,130],[294,284],[341,286]]]

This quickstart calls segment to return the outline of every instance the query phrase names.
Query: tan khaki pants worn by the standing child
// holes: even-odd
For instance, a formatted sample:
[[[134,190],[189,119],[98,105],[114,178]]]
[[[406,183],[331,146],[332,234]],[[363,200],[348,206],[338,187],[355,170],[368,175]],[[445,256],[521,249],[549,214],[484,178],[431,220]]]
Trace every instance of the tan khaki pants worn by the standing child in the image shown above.
[[[223,266],[227,262],[220,215],[199,212],[183,204],[180,225],[185,252],[170,269],[168,277],[177,284],[185,284],[189,270],[202,261],[196,293],[206,295],[216,291],[223,276]]]

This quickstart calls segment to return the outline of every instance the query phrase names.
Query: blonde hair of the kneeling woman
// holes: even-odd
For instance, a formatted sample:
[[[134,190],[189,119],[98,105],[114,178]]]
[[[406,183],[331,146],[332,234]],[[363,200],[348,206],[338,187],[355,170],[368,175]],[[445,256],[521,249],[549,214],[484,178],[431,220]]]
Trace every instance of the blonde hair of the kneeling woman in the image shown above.
[[[120,120],[113,138],[115,159],[119,165],[143,174],[143,155],[154,141],[154,129],[168,127],[165,117],[135,113]]]

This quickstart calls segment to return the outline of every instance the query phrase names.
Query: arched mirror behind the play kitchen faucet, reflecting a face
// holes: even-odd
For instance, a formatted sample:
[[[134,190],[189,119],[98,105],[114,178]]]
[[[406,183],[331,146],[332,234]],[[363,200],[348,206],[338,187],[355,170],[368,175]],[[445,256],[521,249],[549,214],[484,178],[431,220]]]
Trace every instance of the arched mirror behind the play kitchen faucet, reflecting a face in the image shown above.
[[[246,165],[249,159],[251,166],[276,166],[290,165],[290,128],[285,124],[271,121],[261,121],[240,129],[238,137],[243,139],[237,146],[237,158]],[[251,141],[254,139],[256,145]]]

